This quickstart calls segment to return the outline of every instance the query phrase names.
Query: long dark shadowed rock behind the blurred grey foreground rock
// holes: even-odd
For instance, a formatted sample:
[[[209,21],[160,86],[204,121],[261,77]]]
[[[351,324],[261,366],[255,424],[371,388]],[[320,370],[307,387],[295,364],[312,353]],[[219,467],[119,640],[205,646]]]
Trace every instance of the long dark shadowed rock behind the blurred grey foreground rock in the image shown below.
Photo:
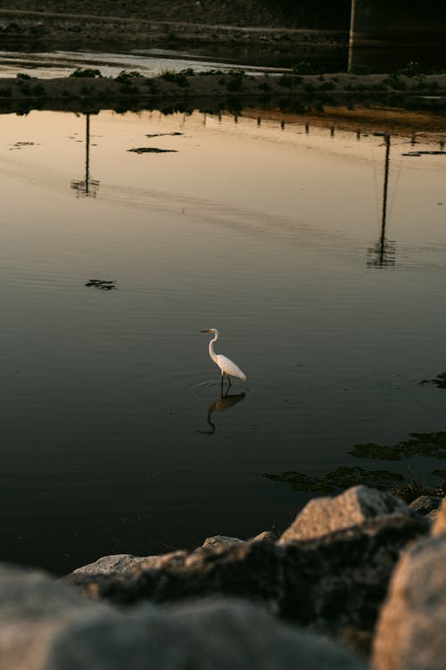
[[[230,596],[263,602],[322,632],[351,628],[370,635],[401,549],[429,528],[415,513],[387,515],[312,540],[240,542],[194,551],[183,565],[65,579],[120,604]]]

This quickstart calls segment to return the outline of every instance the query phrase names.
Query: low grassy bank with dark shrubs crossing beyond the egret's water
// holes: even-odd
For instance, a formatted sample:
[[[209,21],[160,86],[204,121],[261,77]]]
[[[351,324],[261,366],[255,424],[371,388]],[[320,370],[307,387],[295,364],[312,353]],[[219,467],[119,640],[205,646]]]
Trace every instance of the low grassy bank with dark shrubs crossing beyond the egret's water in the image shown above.
[[[356,102],[392,102],[409,107],[442,108],[446,105],[446,74],[392,75],[302,75],[290,71],[283,75],[255,77],[243,71],[164,72],[158,77],[141,77],[137,72],[123,71],[114,79],[102,77],[97,70],[78,70],[70,77],[39,80],[28,74],[0,80],[0,104],[35,107],[48,101],[105,105],[111,100],[156,102],[206,97],[240,99],[244,104],[253,98],[277,103],[281,99],[295,105],[309,100],[325,105],[351,105]]]

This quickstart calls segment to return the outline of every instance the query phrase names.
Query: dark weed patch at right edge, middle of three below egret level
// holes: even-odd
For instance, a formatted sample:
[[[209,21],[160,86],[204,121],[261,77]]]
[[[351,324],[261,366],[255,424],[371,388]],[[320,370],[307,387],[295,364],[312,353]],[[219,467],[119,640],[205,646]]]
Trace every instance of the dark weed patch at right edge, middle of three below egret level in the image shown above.
[[[446,432],[411,432],[410,438],[389,447],[374,442],[356,444],[349,454],[357,458],[380,458],[387,461],[399,461],[410,456],[446,458]]]

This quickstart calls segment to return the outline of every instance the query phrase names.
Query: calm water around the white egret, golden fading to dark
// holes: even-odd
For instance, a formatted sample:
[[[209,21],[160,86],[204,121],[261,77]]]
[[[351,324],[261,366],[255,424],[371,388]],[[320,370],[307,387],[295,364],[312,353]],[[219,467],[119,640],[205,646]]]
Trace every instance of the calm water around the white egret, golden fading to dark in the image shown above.
[[[86,130],[0,121],[2,559],[63,573],[283,530],[308,495],[263,473],[434,483],[433,459],[347,453],[446,429],[418,383],[446,368],[446,160],[403,155],[434,140],[103,112],[86,173]],[[205,328],[248,375],[223,401]]]

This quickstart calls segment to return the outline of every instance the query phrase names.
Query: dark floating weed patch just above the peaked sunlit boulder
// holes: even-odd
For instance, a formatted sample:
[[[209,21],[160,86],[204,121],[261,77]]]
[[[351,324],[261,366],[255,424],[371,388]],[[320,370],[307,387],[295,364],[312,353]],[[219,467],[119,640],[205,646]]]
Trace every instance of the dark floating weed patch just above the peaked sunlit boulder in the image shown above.
[[[389,490],[397,482],[403,482],[404,477],[399,473],[387,470],[365,470],[362,467],[340,465],[335,470],[321,476],[310,476],[287,470],[284,473],[263,475],[273,482],[283,482],[293,490],[310,491],[313,493],[335,493],[338,490],[349,489],[351,486],[366,484],[375,489]]]

